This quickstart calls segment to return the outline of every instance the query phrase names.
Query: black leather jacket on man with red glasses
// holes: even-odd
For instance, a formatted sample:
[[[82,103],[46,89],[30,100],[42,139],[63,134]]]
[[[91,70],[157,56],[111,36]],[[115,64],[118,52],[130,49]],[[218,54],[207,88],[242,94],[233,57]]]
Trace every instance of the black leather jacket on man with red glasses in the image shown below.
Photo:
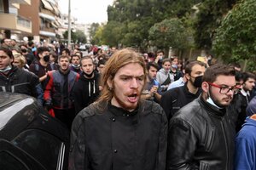
[[[235,135],[225,109],[199,97],[171,119],[167,169],[232,170]]]

